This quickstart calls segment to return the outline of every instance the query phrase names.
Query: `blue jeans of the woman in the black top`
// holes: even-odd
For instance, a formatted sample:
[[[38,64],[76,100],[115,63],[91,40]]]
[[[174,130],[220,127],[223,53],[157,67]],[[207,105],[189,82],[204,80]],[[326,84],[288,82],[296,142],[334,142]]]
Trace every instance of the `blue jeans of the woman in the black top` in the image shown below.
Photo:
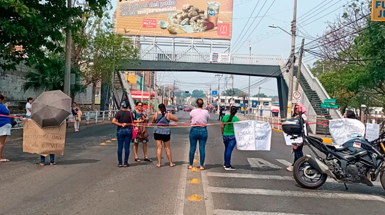
[[[129,155],[129,143],[132,139],[132,129],[119,129],[116,131],[117,138],[117,162],[118,164],[122,164],[121,156],[123,153],[124,147],[124,164],[128,163],[128,155]]]

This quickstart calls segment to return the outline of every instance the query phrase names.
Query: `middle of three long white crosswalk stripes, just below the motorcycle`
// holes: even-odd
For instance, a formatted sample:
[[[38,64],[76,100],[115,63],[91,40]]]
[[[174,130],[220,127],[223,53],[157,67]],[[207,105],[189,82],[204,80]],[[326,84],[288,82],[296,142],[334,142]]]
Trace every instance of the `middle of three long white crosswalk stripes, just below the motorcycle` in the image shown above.
[[[254,189],[254,188],[228,188],[228,187],[209,187],[210,192],[231,193],[231,194],[253,194],[253,195],[274,195],[288,197],[306,198],[329,198],[329,199],[351,199],[351,200],[377,200],[385,202],[385,198],[377,195],[338,193],[338,192],[310,192],[310,191],[289,191],[277,189]]]

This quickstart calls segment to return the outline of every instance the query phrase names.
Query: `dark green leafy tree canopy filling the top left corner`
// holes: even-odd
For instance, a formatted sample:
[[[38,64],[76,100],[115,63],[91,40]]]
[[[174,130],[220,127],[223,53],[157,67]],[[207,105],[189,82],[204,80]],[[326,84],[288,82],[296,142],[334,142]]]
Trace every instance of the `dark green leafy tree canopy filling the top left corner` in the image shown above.
[[[85,0],[87,7],[73,5],[68,9],[63,0],[1,0],[0,67],[15,69],[20,62],[32,66],[46,59],[47,52],[63,52],[63,31],[68,27],[76,31],[79,27],[68,19],[74,20],[89,11],[101,17],[108,1]],[[19,45],[22,50],[15,49]]]

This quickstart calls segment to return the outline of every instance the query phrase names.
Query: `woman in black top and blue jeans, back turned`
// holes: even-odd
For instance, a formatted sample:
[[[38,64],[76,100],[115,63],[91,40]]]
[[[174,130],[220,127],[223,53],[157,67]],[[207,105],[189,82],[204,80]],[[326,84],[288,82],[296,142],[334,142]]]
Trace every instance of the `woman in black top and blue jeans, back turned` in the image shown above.
[[[117,167],[128,167],[129,143],[132,139],[132,123],[141,123],[143,120],[133,120],[134,115],[127,109],[128,101],[122,102],[122,108],[112,119],[112,124],[117,125]],[[124,148],[124,163],[122,153]]]

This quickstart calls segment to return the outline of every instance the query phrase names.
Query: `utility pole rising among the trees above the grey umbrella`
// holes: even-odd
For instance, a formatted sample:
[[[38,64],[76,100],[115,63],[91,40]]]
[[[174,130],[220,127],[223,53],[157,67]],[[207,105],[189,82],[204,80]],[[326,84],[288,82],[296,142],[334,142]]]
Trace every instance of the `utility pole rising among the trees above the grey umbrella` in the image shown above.
[[[72,0],[67,0],[67,8],[72,7]],[[71,23],[71,17],[68,18],[68,24]],[[67,27],[65,36],[65,72],[64,72],[64,93],[71,96],[71,46],[72,46],[72,35],[71,29]]]

